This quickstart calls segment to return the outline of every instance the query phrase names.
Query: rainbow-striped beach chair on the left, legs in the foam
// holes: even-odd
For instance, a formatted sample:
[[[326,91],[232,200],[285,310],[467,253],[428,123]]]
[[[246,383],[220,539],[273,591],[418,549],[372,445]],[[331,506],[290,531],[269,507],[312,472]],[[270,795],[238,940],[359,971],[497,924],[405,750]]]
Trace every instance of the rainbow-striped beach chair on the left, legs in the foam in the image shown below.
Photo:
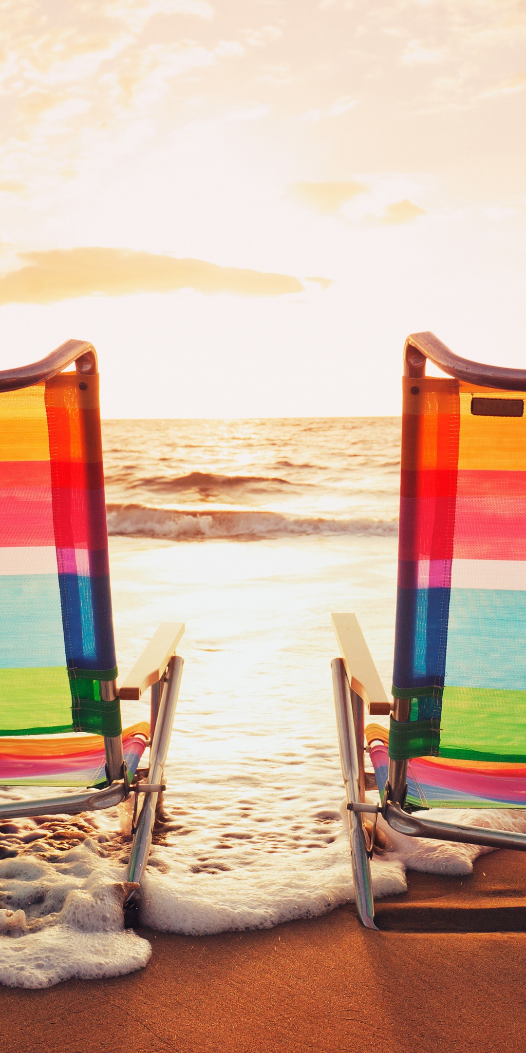
[[[62,372],[75,363],[75,372]],[[113,808],[135,794],[140,885],[181,681],[184,625],[164,623],[117,689],[97,356],[68,340],[0,372],[0,786],[80,788],[0,802],[0,822]],[[120,699],[151,688],[150,721]],[[136,777],[145,747],[149,770]],[[139,797],[139,795],[141,795]],[[127,908],[137,903],[134,889]]]

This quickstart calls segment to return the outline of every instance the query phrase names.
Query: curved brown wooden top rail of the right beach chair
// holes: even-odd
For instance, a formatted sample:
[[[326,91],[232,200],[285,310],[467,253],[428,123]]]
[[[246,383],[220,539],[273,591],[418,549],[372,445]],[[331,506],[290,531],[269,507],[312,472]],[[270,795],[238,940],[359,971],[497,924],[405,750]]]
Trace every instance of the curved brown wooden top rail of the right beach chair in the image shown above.
[[[450,377],[465,380],[466,383],[510,392],[526,391],[526,370],[508,370],[502,365],[471,362],[468,358],[454,355],[434,333],[411,333],[405,342],[404,376],[424,377],[426,358]]]

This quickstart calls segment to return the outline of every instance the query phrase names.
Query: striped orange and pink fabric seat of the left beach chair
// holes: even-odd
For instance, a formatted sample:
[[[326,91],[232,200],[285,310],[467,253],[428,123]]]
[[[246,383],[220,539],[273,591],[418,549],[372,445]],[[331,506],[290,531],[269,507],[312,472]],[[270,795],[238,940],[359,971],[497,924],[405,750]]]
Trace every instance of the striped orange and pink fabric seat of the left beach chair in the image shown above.
[[[149,738],[149,724],[122,732],[128,777],[134,777]],[[0,784],[34,787],[106,786],[104,739],[100,735],[0,738]]]

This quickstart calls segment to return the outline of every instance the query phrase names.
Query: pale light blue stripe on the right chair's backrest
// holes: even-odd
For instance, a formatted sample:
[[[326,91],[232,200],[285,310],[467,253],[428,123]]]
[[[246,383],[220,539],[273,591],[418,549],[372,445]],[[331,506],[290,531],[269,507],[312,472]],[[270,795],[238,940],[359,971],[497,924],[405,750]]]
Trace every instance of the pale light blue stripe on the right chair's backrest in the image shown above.
[[[451,589],[445,682],[526,691],[526,592]]]

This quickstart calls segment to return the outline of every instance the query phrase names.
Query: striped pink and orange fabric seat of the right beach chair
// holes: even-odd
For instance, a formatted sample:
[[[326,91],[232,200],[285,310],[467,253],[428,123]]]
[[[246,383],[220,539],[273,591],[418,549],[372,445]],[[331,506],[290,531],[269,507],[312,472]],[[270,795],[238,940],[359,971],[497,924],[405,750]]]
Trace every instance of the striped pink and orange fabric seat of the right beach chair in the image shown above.
[[[388,732],[365,729],[380,794],[388,769]],[[526,808],[526,764],[417,757],[407,762],[406,803],[419,808]]]

